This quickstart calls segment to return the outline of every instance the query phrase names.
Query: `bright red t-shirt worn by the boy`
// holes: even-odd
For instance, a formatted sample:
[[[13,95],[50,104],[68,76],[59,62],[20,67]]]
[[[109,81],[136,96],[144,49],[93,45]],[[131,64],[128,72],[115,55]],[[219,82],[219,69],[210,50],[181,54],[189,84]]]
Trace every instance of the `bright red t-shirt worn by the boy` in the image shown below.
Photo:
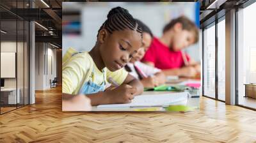
[[[190,57],[186,54],[189,61]],[[158,38],[154,37],[150,47],[141,61],[149,61],[155,64],[156,68],[161,70],[180,68],[184,66],[182,52],[172,51],[169,47],[161,43]]]

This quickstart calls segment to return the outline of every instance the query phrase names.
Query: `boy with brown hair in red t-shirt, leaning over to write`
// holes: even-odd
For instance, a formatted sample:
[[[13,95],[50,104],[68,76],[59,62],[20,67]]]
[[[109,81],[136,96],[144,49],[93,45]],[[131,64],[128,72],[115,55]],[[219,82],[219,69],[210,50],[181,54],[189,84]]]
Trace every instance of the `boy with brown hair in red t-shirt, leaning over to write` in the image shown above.
[[[198,41],[198,28],[187,17],[169,22],[163,36],[154,37],[142,61],[163,70],[165,75],[195,77],[200,73],[200,64],[182,52]]]

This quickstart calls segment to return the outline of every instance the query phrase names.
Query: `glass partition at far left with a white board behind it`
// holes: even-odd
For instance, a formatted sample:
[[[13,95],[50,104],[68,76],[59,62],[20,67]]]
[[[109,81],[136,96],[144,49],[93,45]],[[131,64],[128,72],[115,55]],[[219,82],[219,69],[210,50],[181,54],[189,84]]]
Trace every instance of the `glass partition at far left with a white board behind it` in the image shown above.
[[[15,10],[26,8],[28,2],[11,4]],[[0,2],[3,3],[10,5],[10,1]],[[3,114],[29,103],[29,22],[0,8],[0,30],[0,114]]]

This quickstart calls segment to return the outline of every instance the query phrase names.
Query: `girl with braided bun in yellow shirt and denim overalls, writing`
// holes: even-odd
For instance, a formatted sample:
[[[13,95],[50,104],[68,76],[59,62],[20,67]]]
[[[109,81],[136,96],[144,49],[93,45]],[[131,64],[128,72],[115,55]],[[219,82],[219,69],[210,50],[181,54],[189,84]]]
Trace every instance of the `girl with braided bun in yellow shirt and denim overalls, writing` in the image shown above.
[[[138,52],[141,43],[141,27],[129,11],[119,6],[113,8],[90,52],[73,50],[63,57],[63,95],[85,94],[92,105],[130,103],[143,92],[143,85],[123,67]],[[118,87],[104,91],[109,79]]]

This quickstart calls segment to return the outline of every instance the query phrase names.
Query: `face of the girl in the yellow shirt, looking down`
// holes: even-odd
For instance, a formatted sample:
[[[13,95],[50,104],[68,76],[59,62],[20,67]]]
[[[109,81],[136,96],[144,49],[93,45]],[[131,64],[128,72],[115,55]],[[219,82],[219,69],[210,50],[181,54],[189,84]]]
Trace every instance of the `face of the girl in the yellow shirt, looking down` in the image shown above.
[[[105,66],[114,72],[123,68],[141,47],[141,34],[136,31],[114,31],[106,36],[100,46],[100,55]]]

